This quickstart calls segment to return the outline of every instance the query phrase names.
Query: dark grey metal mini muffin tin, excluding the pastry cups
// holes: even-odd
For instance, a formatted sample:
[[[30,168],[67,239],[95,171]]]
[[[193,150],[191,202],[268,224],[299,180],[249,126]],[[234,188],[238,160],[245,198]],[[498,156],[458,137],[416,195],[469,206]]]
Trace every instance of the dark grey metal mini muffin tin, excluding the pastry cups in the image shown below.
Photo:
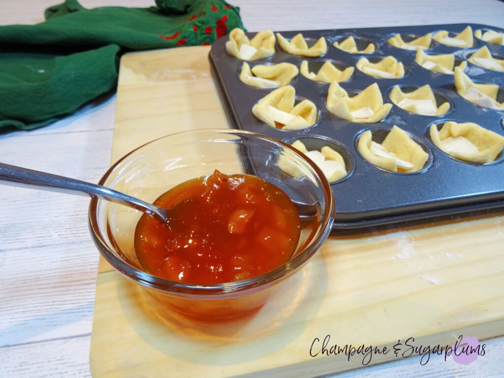
[[[414,50],[394,47],[387,40],[396,33],[403,40],[432,35],[439,30],[448,30],[454,36],[471,26],[473,33],[480,29],[503,32],[493,26],[479,24],[421,25],[365,29],[333,29],[280,32],[286,38],[302,33],[309,41],[321,36],[327,40],[328,52],[321,57],[303,57],[283,51],[276,43],[276,53],[263,60],[248,61],[250,67],[257,64],[291,62],[298,68],[307,60],[312,71],[326,60],[340,68],[355,67],[363,56],[368,59],[392,55],[401,61],[406,74],[400,79],[381,79],[366,75],[355,68],[350,80],[340,83],[349,94],[358,93],[373,83],[377,83],[384,102],[392,103],[389,93],[395,85],[403,91],[413,90],[429,84],[439,101],[449,101],[451,109],[440,116],[425,116],[409,113],[393,105],[389,115],[376,123],[355,123],[338,118],[326,109],[328,83],[314,82],[299,74],[290,85],[294,86],[296,98],[309,99],[319,110],[319,119],[310,128],[296,131],[275,129],[261,122],[252,114],[254,104],[272,89],[259,89],[242,83],[239,78],[243,60],[229,55],[225,48],[226,38],[215,42],[209,54],[216,87],[221,97],[231,127],[257,132],[280,139],[286,143],[301,140],[310,149],[328,145],[338,151],[347,164],[348,175],[331,183],[336,199],[335,228],[358,228],[401,221],[443,216],[454,213],[492,209],[504,204],[504,157],[502,153],[492,163],[475,164],[453,158],[440,151],[429,138],[432,123],[442,125],[453,120],[474,122],[481,127],[504,135],[504,111],[482,108],[459,94],[454,85],[454,76],[440,74],[422,68],[416,62]],[[248,33],[252,38],[256,33]],[[276,31],[275,31],[276,34]],[[363,47],[369,42],[376,45],[373,53],[349,53],[333,46],[353,36]],[[487,45],[492,55],[501,59],[504,46],[484,42],[474,38],[474,46],[469,48],[451,47],[432,40],[427,54],[454,54],[456,65],[466,60],[473,52]],[[500,89],[497,101],[504,101],[504,72],[491,71],[468,62],[465,73],[475,83],[497,84]],[[439,103],[438,103],[439,105]],[[378,168],[366,161],[357,150],[359,136],[371,130],[373,140],[381,143],[393,125],[406,131],[429,154],[424,169],[414,173],[391,172]],[[250,157],[253,163],[253,157]]]

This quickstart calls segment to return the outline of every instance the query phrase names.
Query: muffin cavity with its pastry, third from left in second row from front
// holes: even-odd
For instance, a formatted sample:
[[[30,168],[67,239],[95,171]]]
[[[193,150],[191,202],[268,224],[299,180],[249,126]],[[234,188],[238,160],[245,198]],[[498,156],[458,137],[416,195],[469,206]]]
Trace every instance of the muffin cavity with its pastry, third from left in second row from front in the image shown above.
[[[388,93],[389,99],[398,107],[410,113],[438,116],[453,109],[451,102],[442,94],[424,86],[396,85]]]

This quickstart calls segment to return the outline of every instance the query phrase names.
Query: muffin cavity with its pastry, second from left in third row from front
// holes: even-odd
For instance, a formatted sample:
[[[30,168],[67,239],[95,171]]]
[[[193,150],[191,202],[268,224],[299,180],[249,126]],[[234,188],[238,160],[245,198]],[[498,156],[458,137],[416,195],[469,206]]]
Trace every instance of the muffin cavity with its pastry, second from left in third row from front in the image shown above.
[[[342,83],[352,78],[354,68],[336,60],[303,60],[299,66],[299,72],[304,77],[320,83],[333,81]]]

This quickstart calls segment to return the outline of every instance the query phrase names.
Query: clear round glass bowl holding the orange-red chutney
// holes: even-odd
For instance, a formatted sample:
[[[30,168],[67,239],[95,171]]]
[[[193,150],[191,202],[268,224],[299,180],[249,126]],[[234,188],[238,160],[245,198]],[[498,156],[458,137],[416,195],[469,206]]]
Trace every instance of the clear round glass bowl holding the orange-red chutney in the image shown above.
[[[286,173],[285,163],[294,168],[294,175]],[[332,229],[335,212],[331,186],[311,160],[276,139],[239,130],[195,130],[149,142],[119,159],[99,184],[152,203],[169,188],[215,169],[259,176],[281,188],[296,205],[301,237],[285,264],[260,276],[220,284],[159,278],[145,272],[135,254],[135,228],[142,213],[96,198],[89,207],[93,240],[118,273],[152,294],[167,311],[208,322],[258,310],[280,283],[319,250]]]

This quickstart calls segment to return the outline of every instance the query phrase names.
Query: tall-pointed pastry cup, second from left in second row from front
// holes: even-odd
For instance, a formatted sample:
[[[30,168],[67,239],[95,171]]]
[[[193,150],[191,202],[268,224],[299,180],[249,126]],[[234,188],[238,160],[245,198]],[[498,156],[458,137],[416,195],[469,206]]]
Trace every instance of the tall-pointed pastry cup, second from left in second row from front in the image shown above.
[[[373,83],[350,97],[338,82],[329,86],[326,101],[327,109],[334,115],[351,122],[379,122],[389,114],[392,104],[384,104],[378,84]]]

